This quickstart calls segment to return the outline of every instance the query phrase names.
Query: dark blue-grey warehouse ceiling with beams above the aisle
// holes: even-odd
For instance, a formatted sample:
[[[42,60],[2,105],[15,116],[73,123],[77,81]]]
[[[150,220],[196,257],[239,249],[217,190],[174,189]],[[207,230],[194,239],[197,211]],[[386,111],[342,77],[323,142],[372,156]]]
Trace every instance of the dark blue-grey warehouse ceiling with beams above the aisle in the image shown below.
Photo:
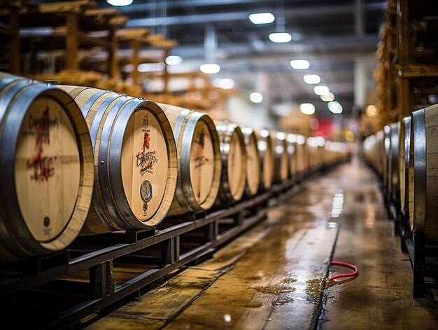
[[[183,57],[180,70],[199,69],[214,60],[221,67],[215,77],[234,79],[248,95],[262,92],[268,108],[312,102],[324,116],[330,114],[326,103],[314,94],[313,85],[304,83],[304,74],[318,74],[344,114],[365,106],[367,90],[374,85],[374,52],[385,6],[386,1],[376,0],[134,0],[117,8],[129,18],[126,27],[148,27],[178,41],[171,53]],[[262,25],[248,20],[250,13],[264,12],[276,20]],[[268,39],[269,33],[282,31],[292,41]],[[311,66],[294,70],[294,59],[308,60]]]

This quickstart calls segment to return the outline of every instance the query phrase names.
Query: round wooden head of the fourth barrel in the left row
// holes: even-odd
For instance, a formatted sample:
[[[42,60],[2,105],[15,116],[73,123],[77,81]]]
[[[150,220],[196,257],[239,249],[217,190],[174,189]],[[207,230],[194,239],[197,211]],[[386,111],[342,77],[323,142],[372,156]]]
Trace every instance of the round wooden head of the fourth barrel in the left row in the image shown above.
[[[234,131],[231,137],[231,142],[229,142],[229,153],[227,160],[229,191],[232,193],[234,198],[239,197],[237,195],[242,184],[242,174],[244,174],[242,171],[242,153],[243,150],[241,139],[239,139],[238,133]]]

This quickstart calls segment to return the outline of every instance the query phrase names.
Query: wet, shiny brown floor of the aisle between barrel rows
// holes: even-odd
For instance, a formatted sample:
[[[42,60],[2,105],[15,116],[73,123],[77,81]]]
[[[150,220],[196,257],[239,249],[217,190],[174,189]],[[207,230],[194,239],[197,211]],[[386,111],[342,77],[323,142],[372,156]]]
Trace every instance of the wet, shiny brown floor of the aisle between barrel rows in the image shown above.
[[[306,184],[267,221],[87,329],[438,329],[438,303],[411,296],[379,187],[353,159]],[[358,266],[349,272],[331,260]]]

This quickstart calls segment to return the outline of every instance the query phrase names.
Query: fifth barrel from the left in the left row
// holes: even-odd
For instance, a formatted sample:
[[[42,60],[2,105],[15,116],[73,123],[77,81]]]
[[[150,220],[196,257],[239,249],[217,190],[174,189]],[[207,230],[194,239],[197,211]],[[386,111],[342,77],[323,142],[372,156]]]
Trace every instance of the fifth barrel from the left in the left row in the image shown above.
[[[246,188],[247,196],[255,195],[260,189],[260,154],[257,147],[257,135],[252,128],[241,128],[246,147]]]

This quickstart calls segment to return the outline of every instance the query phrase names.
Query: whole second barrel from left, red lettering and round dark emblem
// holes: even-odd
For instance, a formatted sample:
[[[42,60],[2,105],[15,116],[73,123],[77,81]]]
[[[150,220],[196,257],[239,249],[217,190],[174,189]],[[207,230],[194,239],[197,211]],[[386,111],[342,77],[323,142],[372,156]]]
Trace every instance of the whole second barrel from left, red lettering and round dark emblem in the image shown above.
[[[82,234],[159,224],[174,199],[178,173],[164,111],[154,102],[108,90],[58,87],[82,109],[94,149],[92,208]]]

